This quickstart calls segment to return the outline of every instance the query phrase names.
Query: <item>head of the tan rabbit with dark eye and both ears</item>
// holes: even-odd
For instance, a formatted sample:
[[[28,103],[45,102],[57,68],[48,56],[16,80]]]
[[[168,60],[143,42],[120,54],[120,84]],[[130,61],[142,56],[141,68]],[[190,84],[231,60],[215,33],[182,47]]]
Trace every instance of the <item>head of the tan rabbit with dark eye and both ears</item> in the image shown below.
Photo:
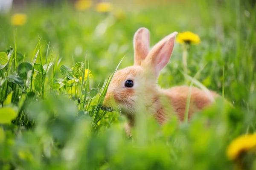
[[[151,106],[157,98],[157,78],[169,62],[177,32],[164,37],[149,49],[149,31],[140,28],[134,34],[134,65],[119,70],[108,87],[102,109],[133,114],[141,102]]]

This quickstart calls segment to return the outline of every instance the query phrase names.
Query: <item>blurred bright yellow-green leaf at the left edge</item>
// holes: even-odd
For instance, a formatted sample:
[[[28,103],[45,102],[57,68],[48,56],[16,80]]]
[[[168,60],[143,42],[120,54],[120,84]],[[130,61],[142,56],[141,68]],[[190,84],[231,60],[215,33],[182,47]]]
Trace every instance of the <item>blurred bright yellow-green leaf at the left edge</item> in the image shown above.
[[[0,124],[9,124],[16,118],[13,108],[0,108]]]

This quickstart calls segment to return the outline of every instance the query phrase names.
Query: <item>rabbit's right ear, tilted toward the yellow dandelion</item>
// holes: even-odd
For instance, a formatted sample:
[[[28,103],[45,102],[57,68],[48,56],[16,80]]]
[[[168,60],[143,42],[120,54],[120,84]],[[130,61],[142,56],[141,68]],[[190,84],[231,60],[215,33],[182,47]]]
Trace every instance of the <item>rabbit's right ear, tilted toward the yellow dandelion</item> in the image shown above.
[[[155,71],[158,76],[160,71],[166,66],[169,62],[169,59],[172,55],[172,49],[175,42],[175,36],[177,32],[164,37],[160,42],[158,42],[154,47],[149,51],[148,56],[144,60],[142,66],[146,69],[152,69]]]

